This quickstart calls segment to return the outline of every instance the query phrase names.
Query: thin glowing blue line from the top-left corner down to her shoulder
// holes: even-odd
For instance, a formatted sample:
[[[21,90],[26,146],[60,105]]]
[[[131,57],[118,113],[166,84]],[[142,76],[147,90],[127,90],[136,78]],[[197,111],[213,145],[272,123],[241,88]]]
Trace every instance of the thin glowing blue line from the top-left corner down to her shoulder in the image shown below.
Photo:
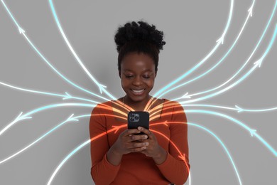
[[[14,22],[14,23],[16,24],[16,26],[18,27],[19,33],[23,34],[23,36],[26,38],[26,40],[27,40],[28,43],[32,46],[32,48],[36,51],[36,53],[38,53],[38,55],[45,61],[45,63],[47,63],[47,64],[50,66],[50,68],[52,68],[52,69],[55,71],[55,73],[57,73],[58,75],[60,75],[61,78],[63,78],[65,81],[67,81],[67,83],[70,83],[71,85],[73,85],[75,88],[78,88],[78,89],[80,89],[80,90],[82,90],[82,91],[85,91],[86,93],[89,93],[89,94],[94,95],[94,96],[96,96],[96,97],[102,98],[102,99],[104,99],[104,100],[108,100],[108,99],[105,98],[105,97],[102,97],[102,96],[100,96],[100,95],[97,95],[97,94],[95,94],[95,93],[92,93],[92,92],[90,92],[89,90],[85,90],[84,88],[81,88],[79,85],[76,85],[75,83],[72,83],[72,81],[70,81],[70,80],[68,80],[67,78],[65,78],[64,75],[62,75],[58,70],[56,70],[56,69],[53,67],[53,65],[51,65],[51,64],[48,62],[48,60],[43,56],[43,54],[41,54],[40,51],[38,51],[38,49],[36,48],[36,46],[34,46],[33,43],[29,40],[29,38],[28,38],[28,37],[26,36],[26,34],[25,34],[25,31],[18,25],[16,19],[13,17],[13,15],[11,14],[11,11],[9,11],[9,9],[8,9],[8,7],[6,6],[6,4],[4,3],[4,1],[1,0],[1,2],[2,2],[2,4],[4,5],[6,11],[8,11],[9,15],[10,15],[11,18],[13,19],[13,22]]]

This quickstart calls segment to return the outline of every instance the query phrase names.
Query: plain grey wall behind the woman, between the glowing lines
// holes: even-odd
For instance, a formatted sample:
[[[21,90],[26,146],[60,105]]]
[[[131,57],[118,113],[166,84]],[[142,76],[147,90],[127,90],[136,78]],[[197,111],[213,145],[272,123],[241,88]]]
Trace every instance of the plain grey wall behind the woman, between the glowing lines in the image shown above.
[[[224,45],[186,80],[200,75],[224,56],[237,37],[252,1],[235,1],[231,25]],[[48,1],[6,1],[26,35],[60,73],[78,85],[99,94],[99,90],[80,68],[58,31]],[[143,19],[165,33],[166,44],[160,54],[158,76],[153,93],[163,85],[196,65],[215,46],[227,23],[230,1],[54,1],[63,29],[78,56],[95,78],[116,97],[124,95],[116,67],[114,33],[126,21]],[[222,65],[205,78],[175,90],[164,97],[172,99],[187,92],[197,93],[213,88],[229,79],[253,51],[264,31],[275,1],[256,1],[237,46]],[[276,15],[260,47],[247,69],[262,56],[273,35]],[[276,44],[266,56],[261,68],[255,70],[236,87],[222,95],[197,102],[210,105],[249,109],[276,107]],[[99,100],[81,92],[60,78],[28,45],[25,38],[0,6],[0,81],[21,88],[45,92],[65,92]],[[246,70],[243,71],[244,74]],[[13,90],[0,85],[0,129],[18,114],[62,100],[34,93]],[[107,96],[105,96],[107,97]],[[202,107],[194,107],[204,109]],[[185,107],[186,110],[192,109]],[[48,130],[75,115],[89,114],[91,108],[59,107],[33,115],[0,136],[0,159],[27,146]],[[277,149],[276,110],[271,112],[240,112],[205,109],[230,115],[253,129]],[[276,184],[276,157],[258,139],[234,122],[220,117],[188,114],[188,121],[203,125],[226,144],[241,176],[242,184]],[[79,144],[89,139],[89,118],[69,122],[52,132],[31,149],[0,164],[0,184],[46,184],[64,157]],[[191,184],[239,184],[227,154],[217,140],[195,127],[189,127]],[[93,184],[90,176],[89,145],[75,154],[53,180],[53,184]],[[104,177],[103,177],[104,178]],[[145,178],[145,177],[143,177]],[[188,182],[186,183],[188,184]]]

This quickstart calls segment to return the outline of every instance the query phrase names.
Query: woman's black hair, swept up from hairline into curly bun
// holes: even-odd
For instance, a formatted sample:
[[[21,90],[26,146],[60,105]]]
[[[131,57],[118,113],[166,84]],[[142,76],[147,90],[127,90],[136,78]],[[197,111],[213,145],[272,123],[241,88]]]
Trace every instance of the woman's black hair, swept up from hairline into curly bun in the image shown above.
[[[139,24],[138,24],[139,23]],[[158,31],[156,26],[149,25],[144,21],[125,23],[119,26],[114,41],[118,56],[118,70],[121,72],[121,61],[129,53],[144,53],[150,56],[155,63],[155,71],[158,70],[158,54],[163,50],[163,31]]]

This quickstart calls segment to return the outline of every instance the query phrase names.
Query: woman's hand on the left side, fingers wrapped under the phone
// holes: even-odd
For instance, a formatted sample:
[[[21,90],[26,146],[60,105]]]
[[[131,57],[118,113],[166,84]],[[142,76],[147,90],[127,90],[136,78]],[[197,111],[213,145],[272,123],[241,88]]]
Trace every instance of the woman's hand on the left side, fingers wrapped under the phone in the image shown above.
[[[138,129],[125,129],[114,142],[112,148],[117,154],[129,154],[131,152],[141,152],[148,146],[148,142],[143,142],[147,139],[146,134],[138,134]]]

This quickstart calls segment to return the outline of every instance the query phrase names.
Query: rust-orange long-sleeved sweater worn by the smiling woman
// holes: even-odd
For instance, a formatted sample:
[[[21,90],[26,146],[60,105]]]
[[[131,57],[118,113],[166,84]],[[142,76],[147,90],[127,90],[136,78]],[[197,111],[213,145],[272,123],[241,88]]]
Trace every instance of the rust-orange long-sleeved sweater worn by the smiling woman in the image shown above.
[[[109,109],[104,109],[103,105]],[[185,183],[190,169],[188,125],[183,107],[178,102],[165,99],[160,119],[149,123],[158,144],[168,152],[162,164],[156,164],[151,157],[140,152],[124,154],[118,166],[110,164],[107,152],[127,124],[108,115],[114,115],[111,101],[94,107],[89,121],[91,174],[95,184]]]

